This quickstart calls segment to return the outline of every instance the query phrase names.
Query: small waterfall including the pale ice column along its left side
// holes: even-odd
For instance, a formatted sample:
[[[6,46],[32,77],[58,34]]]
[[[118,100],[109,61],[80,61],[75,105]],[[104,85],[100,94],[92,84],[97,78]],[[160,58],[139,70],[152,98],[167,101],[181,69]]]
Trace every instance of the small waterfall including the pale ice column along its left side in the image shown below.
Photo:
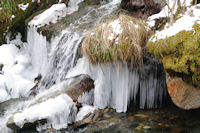
[[[78,4],[79,2],[75,3]],[[36,33],[35,28],[32,27],[29,30],[28,34],[30,35],[28,37],[30,36],[30,38],[28,40],[30,49],[32,49],[33,65],[37,65],[34,66],[43,77],[39,85],[40,89],[50,88],[65,79],[67,72],[75,66],[76,60],[80,56],[79,48],[85,34],[100,21],[112,17],[118,10],[119,4],[120,0],[114,0],[99,8],[86,7],[81,13],[82,16],[73,18],[75,20],[53,38],[51,43],[48,43],[45,37]],[[78,16],[79,14],[74,12],[74,15]],[[71,16],[73,16],[73,13]],[[71,21],[70,19],[72,18],[66,21]],[[33,36],[35,40],[32,38]]]

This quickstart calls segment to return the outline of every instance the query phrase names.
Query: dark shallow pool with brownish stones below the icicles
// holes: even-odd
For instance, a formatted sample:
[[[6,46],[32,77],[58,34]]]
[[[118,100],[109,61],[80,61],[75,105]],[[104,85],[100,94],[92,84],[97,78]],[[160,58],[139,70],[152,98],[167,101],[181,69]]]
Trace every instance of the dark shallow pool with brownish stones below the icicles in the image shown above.
[[[100,120],[80,127],[74,132],[199,133],[199,114],[200,110],[184,111],[174,105],[153,110],[136,109],[127,113],[108,111]]]

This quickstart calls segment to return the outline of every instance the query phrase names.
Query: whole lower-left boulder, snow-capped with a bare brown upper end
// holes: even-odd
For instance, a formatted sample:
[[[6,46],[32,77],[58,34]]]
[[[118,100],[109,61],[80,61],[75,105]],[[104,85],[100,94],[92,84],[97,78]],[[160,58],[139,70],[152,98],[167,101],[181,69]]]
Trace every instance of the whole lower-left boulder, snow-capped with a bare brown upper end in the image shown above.
[[[94,81],[87,75],[79,75],[67,79],[58,86],[52,87],[53,89],[50,90],[50,93],[36,96],[34,100],[30,101],[29,106],[21,112],[16,112],[11,115],[7,122],[7,126],[16,132],[36,130],[37,126],[44,125],[49,121],[52,122],[51,118],[60,114],[60,110],[61,112],[66,112],[66,114],[62,113],[62,115],[67,116],[67,123],[72,123],[75,121],[75,114],[77,112],[77,107],[74,102],[78,101],[79,96],[93,89],[93,83]],[[61,87],[61,89],[57,87]],[[61,105],[63,102],[65,106]],[[57,103],[58,105],[53,103]],[[46,107],[43,108],[44,106]],[[40,110],[38,110],[38,108],[40,108]],[[59,108],[59,110],[53,108]],[[27,112],[31,112],[32,110],[35,112],[32,112],[31,115],[29,115],[30,113]],[[59,115],[61,118],[58,119],[62,119],[62,115]]]

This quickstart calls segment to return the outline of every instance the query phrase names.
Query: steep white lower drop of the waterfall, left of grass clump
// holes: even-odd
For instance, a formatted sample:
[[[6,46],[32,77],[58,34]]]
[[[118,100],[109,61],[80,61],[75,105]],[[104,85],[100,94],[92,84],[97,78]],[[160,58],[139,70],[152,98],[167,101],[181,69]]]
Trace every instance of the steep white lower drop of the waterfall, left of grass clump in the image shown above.
[[[68,70],[74,67],[77,49],[81,43],[82,36],[77,33],[66,31],[61,35],[58,43],[49,54],[48,66],[42,74],[41,86],[49,88],[65,79]],[[57,41],[57,40],[56,40]]]

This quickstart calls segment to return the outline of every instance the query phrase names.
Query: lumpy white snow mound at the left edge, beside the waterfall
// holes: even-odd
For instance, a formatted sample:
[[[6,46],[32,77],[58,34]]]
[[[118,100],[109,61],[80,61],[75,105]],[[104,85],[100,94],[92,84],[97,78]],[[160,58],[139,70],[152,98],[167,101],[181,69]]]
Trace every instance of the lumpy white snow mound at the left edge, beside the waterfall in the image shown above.
[[[23,48],[22,48],[23,49]],[[0,102],[10,98],[26,97],[35,85],[35,73],[31,68],[29,55],[14,44],[0,46]]]

